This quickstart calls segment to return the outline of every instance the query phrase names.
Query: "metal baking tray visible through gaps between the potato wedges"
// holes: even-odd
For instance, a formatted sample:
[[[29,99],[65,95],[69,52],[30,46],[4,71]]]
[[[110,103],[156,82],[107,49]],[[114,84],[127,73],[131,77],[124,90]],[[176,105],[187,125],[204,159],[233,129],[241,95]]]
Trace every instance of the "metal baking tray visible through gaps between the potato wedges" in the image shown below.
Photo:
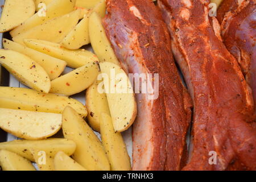
[[[5,0],[0,0],[0,5],[4,5],[4,3],[5,3]],[[1,14],[2,14],[2,9],[0,10],[0,15]],[[0,34],[1,48],[3,48],[2,47],[2,39],[3,38],[11,40],[11,36],[10,36],[9,32]],[[85,48],[89,51],[93,51],[92,47],[90,45],[84,46],[82,48]],[[63,74],[68,73],[72,70],[73,69],[71,69],[71,68],[66,68],[65,71],[63,72]],[[12,75],[10,75],[10,73],[7,72],[5,68],[1,67],[1,65],[0,65],[0,85],[1,86],[27,88],[27,86],[24,86],[18,80],[16,80],[16,78],[14,78]],[[79,94],[75,94],[71,97],[75,98],[76,100],[80,101],[82,104],[85,105],[85,91],[81,92]],[[123,135],[123,140],[126,143],[127,152],[129,154],[131,162],[132,162],[133,143],[132,143],[132,138],[131,138],[131,130],[132,129],[130,128],[129,130],[123,132],[122,135]],[[95,132],[95,133],[98,136],[98,138],[101,139],[100,134],[97,132]],[[63,137],[62,130],[60,130],[57,134],[53,135],[51,138],[62,138],[62,137]],[[9,133],[6,133],[2,129],[0,129],[0,142],[7,142],[7,141],[15,140],[15,139],[19,139],[19,138],[15,137]]]

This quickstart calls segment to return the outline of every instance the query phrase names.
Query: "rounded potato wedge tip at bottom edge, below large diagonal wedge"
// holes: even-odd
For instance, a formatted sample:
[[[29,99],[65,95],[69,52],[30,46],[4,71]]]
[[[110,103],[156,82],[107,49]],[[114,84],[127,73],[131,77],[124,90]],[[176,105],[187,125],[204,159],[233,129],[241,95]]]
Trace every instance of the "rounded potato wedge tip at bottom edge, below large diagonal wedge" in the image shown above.
[[[57,152],[54,158],[55,171],[87,171],[79,163],[75,162],[71,157],[63,151]]]

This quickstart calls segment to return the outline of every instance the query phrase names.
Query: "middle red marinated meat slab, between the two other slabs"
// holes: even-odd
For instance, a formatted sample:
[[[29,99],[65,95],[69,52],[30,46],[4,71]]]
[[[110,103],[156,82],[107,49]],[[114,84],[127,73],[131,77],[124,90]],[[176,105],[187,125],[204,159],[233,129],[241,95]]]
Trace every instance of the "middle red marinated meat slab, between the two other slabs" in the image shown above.
[[[172,51],[193,100],[191,152],[183,170],[256,169],[254,102],[221,41],[209,1],[159,0]]]

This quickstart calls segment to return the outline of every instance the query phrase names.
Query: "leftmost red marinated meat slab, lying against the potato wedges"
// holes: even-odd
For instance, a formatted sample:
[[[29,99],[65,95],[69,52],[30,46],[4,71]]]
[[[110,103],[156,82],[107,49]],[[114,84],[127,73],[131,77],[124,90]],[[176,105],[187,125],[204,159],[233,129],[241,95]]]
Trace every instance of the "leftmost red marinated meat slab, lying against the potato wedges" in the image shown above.
[[[155,100],[149,93],[136,94],[133,170],[179,170],[187,159],[192,104],[177,72],[162,14],[149,0],[108,0],[107,11],[103,24],[123,69],[159,74]],[[158,92],[154,78],[147,81]]]

